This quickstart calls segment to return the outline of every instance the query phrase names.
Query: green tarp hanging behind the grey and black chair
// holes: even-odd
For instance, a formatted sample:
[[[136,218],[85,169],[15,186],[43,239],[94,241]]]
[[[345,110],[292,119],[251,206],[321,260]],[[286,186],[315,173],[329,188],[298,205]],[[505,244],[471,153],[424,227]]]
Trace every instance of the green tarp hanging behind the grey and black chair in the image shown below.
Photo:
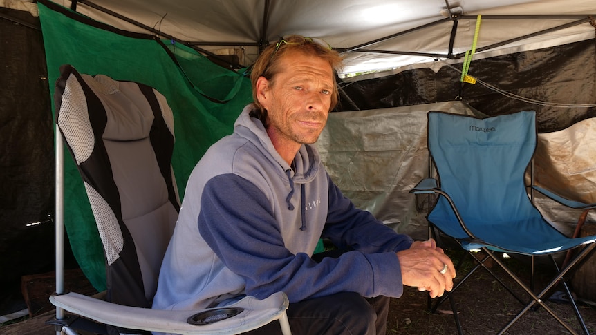
[[[192,48],[115,30],[54,3],[44,4],[39,3],[39,16],[50,95],[62,64],[71,64],[80,73],[141,82],[160,91],[174,112],[172,166],[182,198],[196,162],[212,143],[232,133],[234,120],[252,101],[250,79],[213,64]],[[81,178],[66,156],[66,231],[81,269],[102,291],[106,282],[101,241]]]

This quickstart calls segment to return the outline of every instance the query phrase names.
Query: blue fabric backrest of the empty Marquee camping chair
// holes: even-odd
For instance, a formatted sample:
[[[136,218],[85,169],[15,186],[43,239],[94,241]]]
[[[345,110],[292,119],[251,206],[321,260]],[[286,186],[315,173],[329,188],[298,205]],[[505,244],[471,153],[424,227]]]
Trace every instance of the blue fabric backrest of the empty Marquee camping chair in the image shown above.
[[[440,187],[476,237],[491,240],[486,235],[498,229],[543,220],[524,182],[537,144],[534,111],[485,119],[431,111],[428,121],[429,153]],[[467,237],[444,197],[428,218],[449,236]]]

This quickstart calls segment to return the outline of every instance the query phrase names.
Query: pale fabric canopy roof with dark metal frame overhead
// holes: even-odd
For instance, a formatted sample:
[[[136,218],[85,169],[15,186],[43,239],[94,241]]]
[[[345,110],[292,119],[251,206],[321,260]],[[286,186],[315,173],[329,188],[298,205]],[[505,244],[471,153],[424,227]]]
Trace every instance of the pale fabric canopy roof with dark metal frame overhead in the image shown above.
[[[68,0],[55,1],[71,7]],[[133,32],[149,32],[248,66],[259,47],[292,33],[344,52],[340,73],[387,70],[435,59],[461,61],[595,37],[593,0],[93,0],[77,12]],[[419,65],[420,66],[420,65]]]

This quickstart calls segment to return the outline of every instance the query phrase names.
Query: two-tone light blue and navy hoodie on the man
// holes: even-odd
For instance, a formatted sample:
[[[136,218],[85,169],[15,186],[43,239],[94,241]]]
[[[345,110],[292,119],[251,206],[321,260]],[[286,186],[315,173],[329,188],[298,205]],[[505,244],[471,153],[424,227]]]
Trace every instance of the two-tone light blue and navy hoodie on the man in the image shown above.
[[[301,146],[290,167],[249,116],[252,107],[190,175],[153,308],[214,307],[276,291],[290,303],[342,291],[401,296],[395,252],[411,238],[344,198],[313,146]],[[321,237],[355,251],[317,263],[310,256]]]

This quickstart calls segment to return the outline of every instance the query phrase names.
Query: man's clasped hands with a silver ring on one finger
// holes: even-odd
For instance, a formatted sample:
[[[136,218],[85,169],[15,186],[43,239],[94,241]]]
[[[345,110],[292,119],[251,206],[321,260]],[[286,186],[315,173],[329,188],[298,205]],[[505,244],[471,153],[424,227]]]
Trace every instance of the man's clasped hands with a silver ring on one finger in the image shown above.
[[[443,249],[432,238],[413,242],[410,249],[397,253],[403,285],[429,291],[431,298],[443,296],[453,289],[455,267]]]

